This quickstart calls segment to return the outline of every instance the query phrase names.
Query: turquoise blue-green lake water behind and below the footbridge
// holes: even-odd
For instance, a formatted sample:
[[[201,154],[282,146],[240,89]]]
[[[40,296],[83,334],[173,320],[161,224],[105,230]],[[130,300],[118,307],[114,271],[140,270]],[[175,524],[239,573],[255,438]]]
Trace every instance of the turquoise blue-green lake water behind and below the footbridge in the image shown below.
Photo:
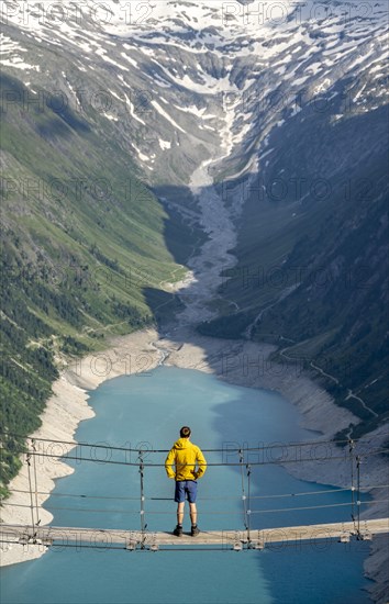
[[[209,462],[237,461],[231,448],[279,445],[247,454],[246,460],[274,461],[284,456],[316,459],[318,480],[331,448],[282,448],[314,440],[298,426],[293,406],[273,392],[232,387],[213,376],[158,368],[147,376],[116,378],[91,393],[96,417],[80,424],[76,439],[113,446],[168,449],[181,425],[209,452]],[[75,472],[59,479],[46,507],[53,525],[140,528],[140,474],[136,467],[104,461],[136,461],[136,454],[77,447]],[[148,455],[160,463],[165,454]],[[245,483],[247,488],[247,482]],[[252,527],[348,521],[349,492],[297,480],[274,463],[252,466]],[[149,530],[171,530],[176,517],[174,482],[160,467],[145,468],[145,522]],[[293,493],[289,497],[268,497]],[[299,493],[314,493],[299,495]],[[87,496],[79,496],[87,495]],[[243,529],[240,468],[210,466],[199,481],[199,526],[203,530]],[[112,499],[109,499],[112,497]],[[158,497],[158,499],[151,499]],[[160,501],[160,497],[163,499]],[[330,505],[330,507],[315,507]],[[310,510],[285,511],[290,507]],[[278,510],[278,512],[269,512]],[[189,528],[186,517],[185,529]],[[363,604],[365,543],[312,541],[274,545],[264,551],[125,551],[113,548],[53,547],[42,558],[1,570],[1,604]]]

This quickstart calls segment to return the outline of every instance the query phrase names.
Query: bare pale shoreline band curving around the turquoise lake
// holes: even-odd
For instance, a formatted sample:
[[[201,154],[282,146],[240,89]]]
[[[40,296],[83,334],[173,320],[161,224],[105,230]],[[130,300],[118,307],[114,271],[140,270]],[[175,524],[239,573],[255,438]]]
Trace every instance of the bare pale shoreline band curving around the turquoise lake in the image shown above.
[[[312,440],[331,440],[340,429],[348,427],[349,423],[357,423],[352,413],[335,405],[331,396],[299,368],[287,363],[269,363],[268,357],[274,350],[275,346],[267,344],[214,339],[194,335],[192,332],[186,333],[185,329],[177,331],[174,338],[169,334],[162,337],[155,329],[144,329],[113,338],[107,350],[88,355],[63,372],[53,385],[53,396],[42,415],[42,426],[31,435],[31,438],[73,440],[79,423],[93,416],[88,405],[89,390],[95,390],[105,380],[151,371],[158,365],[205,371],[235,385],[280,392],[299,410],[301,426],[320,433],[320,437]],[[376,430],[375,438],[379,439],[382,435],[384,440],[384,427]],[[288,465],[287,469],[303,480],[348,486],[348,477],[342,474],[338,461],[331,459],[331,450],[329,449],[330,458],[326,460],[325,471],[323,463],[320,465],[320,474],[318,460],[314,459],[311,463],[304,463],[303,469],[298,465],[292,468]],[[54,489],[54,481],[71,473],[73,469],[58,459],[37,459],[37,490],[44,493],[37,495],[41,506]],[[371,465],[364,486],[379,484],[382,469],[380,463]],[[31,524],[26,463],[23,463],[21,472],[12,480],[10,490],[13,492],[7,503],[26,507],[5,505],[2,508],[2,522]],[[374,492],[371,494],[374,495]],[[377,503],[370,506],[368,516],[365,514],[363,517],[378,517],[386,513],[382,504]],[[41,524],[48,524],[52,515],[41,508],[40,518]],[[44,551],[45,548],[42,546],[5,544],[1,549],[1,566],[38,558]],[[376,538],[373,541],[371,556],[365,563],[368,578],[377,581],[371,588],[371,596],[376,602],[385,601],[386,588],[384,585],[382,589],[382,581],[385,582],[386,575],[382,569],[386,561],[386,540]]]

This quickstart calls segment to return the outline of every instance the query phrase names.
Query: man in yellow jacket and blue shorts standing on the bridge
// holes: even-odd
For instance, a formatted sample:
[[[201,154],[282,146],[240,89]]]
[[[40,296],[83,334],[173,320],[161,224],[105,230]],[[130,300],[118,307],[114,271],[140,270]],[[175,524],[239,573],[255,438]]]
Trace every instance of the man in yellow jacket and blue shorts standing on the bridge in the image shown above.
[[[167,476],[176,480],[175,501],[177,502],[177,526],[174,535],[182,536],[185,497],[189,501],[189,513],[192,523],[191,536],[200,533],[197,526],[197,481],[207,469],[207,461],[199,447],[190,443],[190,428],[184,426],[180,429],[180,438],[176,440],[165,461]],[[173,469],[175,465],[175,469]],[[198,465],[198,469],[196,466]]]

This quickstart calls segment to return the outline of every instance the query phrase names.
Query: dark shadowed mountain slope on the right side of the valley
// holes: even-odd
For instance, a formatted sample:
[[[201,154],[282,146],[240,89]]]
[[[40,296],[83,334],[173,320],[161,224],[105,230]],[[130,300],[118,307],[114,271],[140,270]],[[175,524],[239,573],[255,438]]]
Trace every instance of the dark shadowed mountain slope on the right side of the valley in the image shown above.
[[[270,266],[260,269],[260,261],[252,262],[243,288],[246,267],[237,265],[229,288],[230,293],[237,293],[249,335],[276,343],[280,361],[296,362],[319,378],[340,404],[360,418],[346,434],[360,436],[388,418],[388,153],[384,134],[388,115],[380,108],[340,123],[329,121],[331,116],[314,120],[308,126],[310,136],[299,120],[286,127],[294,153],[278,157],[278,167],[282,165],[285,179],[301,188],[309,186],[310,192],[304,199],[263,202],[278,206],[273,208],[275,213],[289,212],[288,224],[278,234],[286,248]],[[318,167],[316,141],[324,169]],[[302,172],[296,157],[304,167]],[[277,174],[269,176],[269,182],[277,182]],[[249,205],[253,224],[254,216],[262,220],[260,212],[253,209],[253,200]],[[246,216],[247,212],[248,205]],[[300,233],[292,235],[294,221]],[[249,236],[241,237],[238,249],[249,258],[260,258],[264,242],[256,245],[254,233],[251,241],[247,249]],[[241,291],[236,292],[237,283]],[[268,300],[253,309],[259,289]]]

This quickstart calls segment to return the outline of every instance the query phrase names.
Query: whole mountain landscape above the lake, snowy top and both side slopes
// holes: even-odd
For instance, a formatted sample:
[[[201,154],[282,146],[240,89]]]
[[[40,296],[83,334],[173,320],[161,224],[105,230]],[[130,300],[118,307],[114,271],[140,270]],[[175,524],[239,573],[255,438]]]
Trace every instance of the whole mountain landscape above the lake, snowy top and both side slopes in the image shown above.
[[[9,396],[46,363],[44,400],[55,353],[147,324],[185,265],[181,321],[279,343],[382,422],[386,0],[1,10]]]

